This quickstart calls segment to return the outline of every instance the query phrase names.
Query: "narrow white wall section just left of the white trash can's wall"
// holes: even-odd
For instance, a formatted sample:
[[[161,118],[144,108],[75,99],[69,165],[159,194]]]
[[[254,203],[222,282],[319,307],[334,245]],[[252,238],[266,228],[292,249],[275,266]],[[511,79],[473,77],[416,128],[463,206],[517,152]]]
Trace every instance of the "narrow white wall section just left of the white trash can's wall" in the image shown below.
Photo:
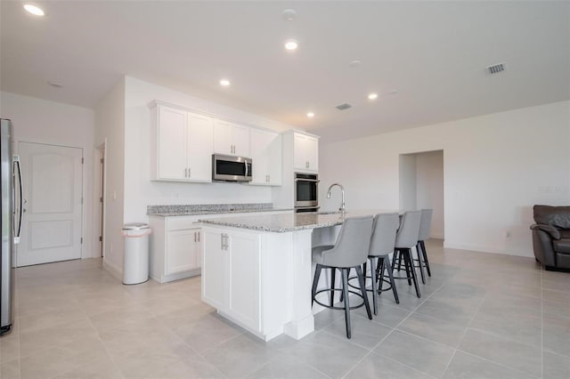
[[[95,143],[105,144],[105,266],[123,269],[123,211],[125,207],[125,82],[121,80],[95,107]]]

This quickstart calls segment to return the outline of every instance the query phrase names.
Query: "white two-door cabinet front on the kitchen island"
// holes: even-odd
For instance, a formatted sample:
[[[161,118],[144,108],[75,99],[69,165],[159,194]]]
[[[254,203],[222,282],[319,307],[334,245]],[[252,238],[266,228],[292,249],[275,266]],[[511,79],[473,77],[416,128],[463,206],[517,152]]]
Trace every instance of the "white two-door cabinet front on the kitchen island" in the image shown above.
[[[260,236],[204,229],[202,300],[252,332],[262,331]]]

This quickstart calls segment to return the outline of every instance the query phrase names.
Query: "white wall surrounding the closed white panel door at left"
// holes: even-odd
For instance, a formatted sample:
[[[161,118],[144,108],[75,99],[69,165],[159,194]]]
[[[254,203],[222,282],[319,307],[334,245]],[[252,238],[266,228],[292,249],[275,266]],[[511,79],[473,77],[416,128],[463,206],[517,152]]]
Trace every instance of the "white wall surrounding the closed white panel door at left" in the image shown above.
[[[81,107],[45,101],[15,93],[0,93],[3,118],[11,118],[15,149],[18,142],[31,141],[83,149],[83,213],[84,245],[81,256],[90,258],[92,240],[94,111]]]

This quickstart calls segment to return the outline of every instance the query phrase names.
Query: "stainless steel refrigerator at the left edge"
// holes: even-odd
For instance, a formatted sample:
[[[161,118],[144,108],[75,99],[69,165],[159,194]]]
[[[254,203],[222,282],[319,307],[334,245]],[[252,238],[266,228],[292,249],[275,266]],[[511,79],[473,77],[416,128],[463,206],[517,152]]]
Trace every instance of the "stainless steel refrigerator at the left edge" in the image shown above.
[[[0,119],[2,250],[0,250],[0,335],[12,327],[13,267],[21,230],[20,157],[12,155],[12,122]]]

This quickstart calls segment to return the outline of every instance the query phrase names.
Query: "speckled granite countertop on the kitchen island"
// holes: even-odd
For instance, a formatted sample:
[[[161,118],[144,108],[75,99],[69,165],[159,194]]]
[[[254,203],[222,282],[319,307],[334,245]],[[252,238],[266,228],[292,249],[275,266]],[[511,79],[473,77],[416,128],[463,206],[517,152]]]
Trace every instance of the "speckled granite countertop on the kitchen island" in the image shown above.
[[[346,214],[335,213],[290,213],[290,214],[260,214],[242,215],[235,217],[219,217],[210,220],[199,220],[203,224],[221,225],[231,228],[248,230],[271,231],[285,233],[295,230],[326,228],[340,225],[346,217],[359,217],[380,213],[397,213],[398,211],[363,209],[350,210]]]

